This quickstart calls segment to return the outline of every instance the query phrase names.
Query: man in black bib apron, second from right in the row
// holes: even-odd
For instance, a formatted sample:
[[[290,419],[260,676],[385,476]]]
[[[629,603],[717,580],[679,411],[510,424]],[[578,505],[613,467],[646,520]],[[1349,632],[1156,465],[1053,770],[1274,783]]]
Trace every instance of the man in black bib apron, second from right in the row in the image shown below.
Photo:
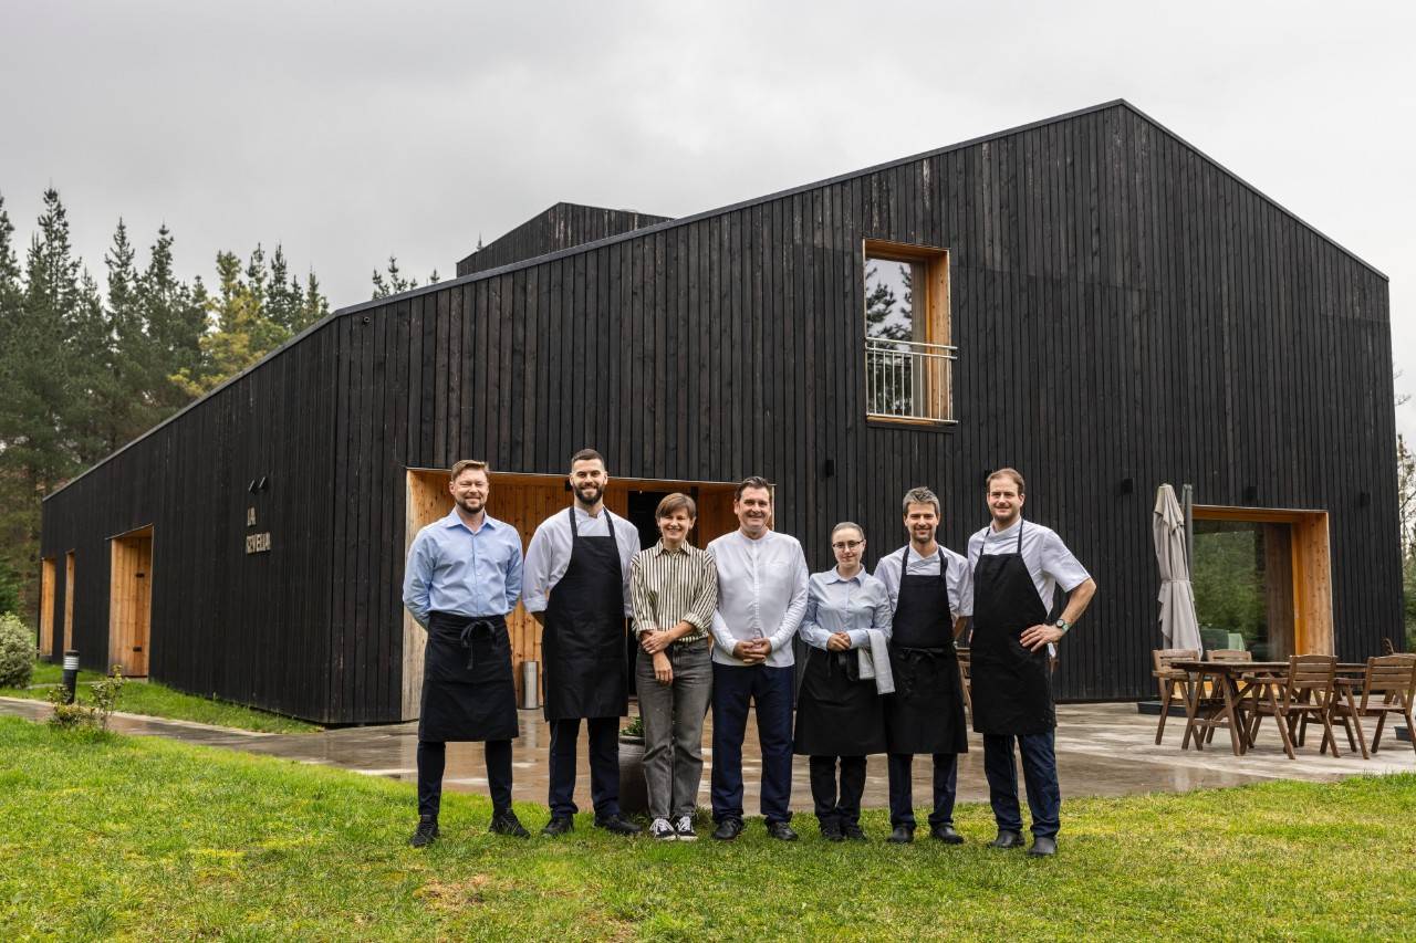
[[[915,840],[912,766],[915,753],[929,753],[935,763],[929,834],[957,845],[963,835],[954,831],[954,793],[959,753],[969,749],[969,732],[952,613],[960,610],[969,566],[963,556],[935,542],[939,498],[933,491],[910,488],[903,510],[909,544],[875,565],[875,579],[895,605],[889,640],[895,694],[885,704],[893,831],[886,841]]]

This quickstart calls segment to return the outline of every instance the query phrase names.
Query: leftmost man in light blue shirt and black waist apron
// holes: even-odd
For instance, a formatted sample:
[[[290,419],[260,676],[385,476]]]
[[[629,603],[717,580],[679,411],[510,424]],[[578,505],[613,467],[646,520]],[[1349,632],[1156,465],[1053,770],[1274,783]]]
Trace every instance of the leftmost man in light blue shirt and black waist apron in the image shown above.
[[[453,510],[408,549],[404,605],[428,630],[418,719],[418,830],[422,848],[438,838],[447,741],[481,741],[491,790],[491,831],[527,837],[511,811],[511,741],[517,695],[507,613],[521,596],[521,538],[487,514],[487,463],[452,467]]]

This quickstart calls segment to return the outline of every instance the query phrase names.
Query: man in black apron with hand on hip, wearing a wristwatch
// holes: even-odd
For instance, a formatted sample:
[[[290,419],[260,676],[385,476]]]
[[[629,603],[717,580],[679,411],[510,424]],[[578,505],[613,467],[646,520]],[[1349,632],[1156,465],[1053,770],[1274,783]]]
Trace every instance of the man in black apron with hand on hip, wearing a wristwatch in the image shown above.
[[[969,538],[971,600],[964,600],[964,613],[973,613],[973,722],[974,731],[983,733],[983,769],[998,823],[991,844],[1022,845],[1018,767],[1012,759],[1017,741],[1032,813],[1028,854],[1052,855],[1058,850],[1062,790],[1048,650],[1082,617],[1096,595],[1096,581],[1051,528],[1022,520],[1024,490],[1022,476],[1014,469],[988,476],[993,521]],[[1058,586],[1069,596],[1062,617],[1049,623]]]

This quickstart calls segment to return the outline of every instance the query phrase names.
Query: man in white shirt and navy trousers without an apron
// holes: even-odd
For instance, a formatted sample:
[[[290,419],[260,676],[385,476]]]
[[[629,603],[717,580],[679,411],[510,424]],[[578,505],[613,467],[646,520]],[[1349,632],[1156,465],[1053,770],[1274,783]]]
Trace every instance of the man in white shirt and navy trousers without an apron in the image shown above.
[[[794,537],[769,530],[772,484],[749,477],[732,511],[739,528],[708,544],[718,565],[712,617],[712,817],[714,838],[742,834],[742,741],[748,704],[758,712],[762,748],[762,814],[767,834],[792,831],[792,639],[806,615],[810,573]]]

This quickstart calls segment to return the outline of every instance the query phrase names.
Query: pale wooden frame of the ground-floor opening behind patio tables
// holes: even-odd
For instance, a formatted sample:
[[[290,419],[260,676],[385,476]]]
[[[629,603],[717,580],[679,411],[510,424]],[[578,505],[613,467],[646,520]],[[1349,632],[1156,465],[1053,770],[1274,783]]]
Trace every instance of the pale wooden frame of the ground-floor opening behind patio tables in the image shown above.
[[[1289,524],[1293,534],[1293,651],[1298,654],[1335,653],[1332,556],[1327,511],[1197,504],[1194,520]]]

